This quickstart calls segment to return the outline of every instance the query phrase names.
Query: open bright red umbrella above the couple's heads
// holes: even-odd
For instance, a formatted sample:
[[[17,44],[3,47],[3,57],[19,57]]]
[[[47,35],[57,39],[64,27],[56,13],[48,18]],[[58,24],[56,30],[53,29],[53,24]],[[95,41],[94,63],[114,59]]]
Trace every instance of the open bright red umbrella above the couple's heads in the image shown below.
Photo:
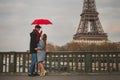
[[[48,19],[35,19],[32,22],[32,25],[48,25],[48,24],[52,24],[51,21],[49,21]]]

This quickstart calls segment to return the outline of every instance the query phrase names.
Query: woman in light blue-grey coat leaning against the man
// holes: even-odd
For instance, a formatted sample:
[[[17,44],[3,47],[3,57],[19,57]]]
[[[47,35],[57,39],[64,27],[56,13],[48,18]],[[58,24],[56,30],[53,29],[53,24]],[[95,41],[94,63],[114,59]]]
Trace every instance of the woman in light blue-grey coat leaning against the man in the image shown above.
[[[40,76],[45,76],[46,74],[46,70],[43,65],[43,61],[45,60],[45,55],[46,55],[46,40],[47,40],[47,35],[43,34],[41,36],[41,39],[37,47],[37,59],[38,59],[38,67],[40,68]]]

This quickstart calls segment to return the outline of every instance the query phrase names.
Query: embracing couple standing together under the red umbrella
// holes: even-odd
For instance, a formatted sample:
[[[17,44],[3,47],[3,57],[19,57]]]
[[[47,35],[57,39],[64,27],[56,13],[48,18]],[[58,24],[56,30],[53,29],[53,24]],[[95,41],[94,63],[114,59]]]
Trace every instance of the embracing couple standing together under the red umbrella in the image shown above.
[[[30,33],[30,53],[31,53],[31,66],[29,68],[28,76],[35,76],[38,73],[35,72],[36,64],[40,69],[40,76],[45,76],[46,70],[44,68],[43,61],[46,55],[46,40],[47,35],[39,32],[41,26],[36,25],[35,29]],[[40,39],[41,38],[41,39]]]

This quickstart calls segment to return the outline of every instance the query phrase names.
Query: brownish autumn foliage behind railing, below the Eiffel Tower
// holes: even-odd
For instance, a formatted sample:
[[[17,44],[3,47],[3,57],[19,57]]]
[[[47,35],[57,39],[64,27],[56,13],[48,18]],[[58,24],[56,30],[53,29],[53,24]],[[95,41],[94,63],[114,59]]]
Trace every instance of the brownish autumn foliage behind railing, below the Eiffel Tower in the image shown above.
[[[47,44],[48,51],[120,51],[120,42],[69,42],[63,46]]]

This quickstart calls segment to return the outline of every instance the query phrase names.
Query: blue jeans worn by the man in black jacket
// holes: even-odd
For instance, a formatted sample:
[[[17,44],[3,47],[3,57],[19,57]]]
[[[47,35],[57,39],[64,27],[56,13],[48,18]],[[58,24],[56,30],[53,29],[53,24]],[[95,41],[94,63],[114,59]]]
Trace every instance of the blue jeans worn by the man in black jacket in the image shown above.
[[[32,60],[31,60],[31,66],[29,68],[29,73],[33,74],[35,72],[35,65],[37,63],[37,53],[31,54]]]

